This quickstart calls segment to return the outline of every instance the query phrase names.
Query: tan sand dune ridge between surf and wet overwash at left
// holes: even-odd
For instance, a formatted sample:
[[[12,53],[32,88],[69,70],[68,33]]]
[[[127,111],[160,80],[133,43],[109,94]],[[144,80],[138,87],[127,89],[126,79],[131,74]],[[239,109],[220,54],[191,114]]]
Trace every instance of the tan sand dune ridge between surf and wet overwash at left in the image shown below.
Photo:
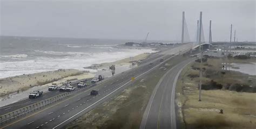
[[[5,96],[13,92],[25,91],[37,85],[45,85],[54,81],[71,79],[69,76],[89,75],[85,71],[76,69],[59,69],[55,71],[45,71],[42,73],[19,75],[2,78],[0,80],[0,96]]]

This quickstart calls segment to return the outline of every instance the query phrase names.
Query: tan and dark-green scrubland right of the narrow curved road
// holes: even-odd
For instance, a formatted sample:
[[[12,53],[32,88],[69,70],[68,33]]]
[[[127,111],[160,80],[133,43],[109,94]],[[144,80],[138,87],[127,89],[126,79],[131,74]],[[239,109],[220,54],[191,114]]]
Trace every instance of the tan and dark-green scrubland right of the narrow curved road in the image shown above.
[[[193,62],[181,72],[176,87],[179,128],[256,127],[256,76],[221,70],[221,62],[219,58],[203,62],[201,102],[198,101],[200,63]],[[231,58],[229,62],[256,60]]]

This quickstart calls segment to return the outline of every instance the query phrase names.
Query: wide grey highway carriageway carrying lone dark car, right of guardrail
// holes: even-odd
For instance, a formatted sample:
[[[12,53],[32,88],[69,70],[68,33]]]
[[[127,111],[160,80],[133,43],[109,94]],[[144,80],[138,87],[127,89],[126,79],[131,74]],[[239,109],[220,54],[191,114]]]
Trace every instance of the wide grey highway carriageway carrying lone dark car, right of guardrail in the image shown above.
[[[187,49],[187,45],[181,46],[183,51]],[[168,49],[165,52],[173,53],[175,48]],[[25,117],[19,118],[16,121],[3,125],[3,128],[61,128],[72,120],[75,120],[82,114],[90,111],[100,103],[118,94],[125,89],[129,84],[133,83],[131,77],[142,77],[150,73],[153,69],[160,66],[164,62],[160,62],[160,58],[171,58],[172,54],[157,53],[143,61],[138,67],[127,70],[105,81],[84,89],[82,92],[72,94],[63,101],[54,103],[44,107],[42,110],[28,114]],[[90,96],[91,90],[98,90],[97,96]],[[55,93],[58,94],[58,93]],[[49,96],[46,96],[47,98]],[[36,99],[35,99],[36,101]],[[18,102],[21,103],[21,102]],[[15,103],[17,104],[17,103]],[[6,106],[7,107],[7,106]],[[12,109],[10,109],[11,111]],[[3,109],[1,109],[3,112]]]

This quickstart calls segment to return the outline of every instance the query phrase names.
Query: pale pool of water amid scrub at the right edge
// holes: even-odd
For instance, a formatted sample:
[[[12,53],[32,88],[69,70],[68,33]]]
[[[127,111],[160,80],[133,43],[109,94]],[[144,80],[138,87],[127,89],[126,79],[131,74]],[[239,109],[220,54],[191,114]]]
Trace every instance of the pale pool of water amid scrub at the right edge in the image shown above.
[[[256,75],[256,63],[231,63],[231,67],[229,69],[249,75]]]

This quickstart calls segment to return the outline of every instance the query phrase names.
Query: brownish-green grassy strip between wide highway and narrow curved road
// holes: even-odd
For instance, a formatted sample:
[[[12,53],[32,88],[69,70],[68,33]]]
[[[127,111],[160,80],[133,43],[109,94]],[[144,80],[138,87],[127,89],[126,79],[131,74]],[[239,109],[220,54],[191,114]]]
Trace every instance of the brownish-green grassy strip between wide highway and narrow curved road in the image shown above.
[[[151,93],[168,69],[186,60],[176,56],[143,78],[135,80],[129,87],[110,100],[66,125],[65,128],[139,128]]]

